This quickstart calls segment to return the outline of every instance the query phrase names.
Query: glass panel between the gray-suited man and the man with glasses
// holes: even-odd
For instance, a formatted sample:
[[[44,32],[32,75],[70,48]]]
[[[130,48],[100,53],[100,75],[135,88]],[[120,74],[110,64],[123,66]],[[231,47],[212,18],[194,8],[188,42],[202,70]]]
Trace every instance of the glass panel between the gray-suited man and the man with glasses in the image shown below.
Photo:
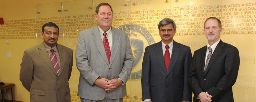
[[[131,73],[131,101],[142,101],[141,71],[145,47],[161,40],[158,23],[170,18],[172,1],[141,0],[130,1],[130,38],[134,54],[134,68]]]

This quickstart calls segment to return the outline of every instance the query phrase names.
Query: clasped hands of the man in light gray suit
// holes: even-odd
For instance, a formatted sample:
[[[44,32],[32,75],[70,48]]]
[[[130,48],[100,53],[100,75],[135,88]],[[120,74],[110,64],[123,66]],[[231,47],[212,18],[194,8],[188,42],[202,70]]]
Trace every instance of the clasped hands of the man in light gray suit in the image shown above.
[[[94,84],[100,86],[103,89],[108,89],[109,87],[107,85],[112,85],[116,83],[115,81],[110,81],[106,78],[101,78],[101,79],[96,79],[96,81],[94,82]],[[114,88],[114,86],[112,86],[112,88]]]

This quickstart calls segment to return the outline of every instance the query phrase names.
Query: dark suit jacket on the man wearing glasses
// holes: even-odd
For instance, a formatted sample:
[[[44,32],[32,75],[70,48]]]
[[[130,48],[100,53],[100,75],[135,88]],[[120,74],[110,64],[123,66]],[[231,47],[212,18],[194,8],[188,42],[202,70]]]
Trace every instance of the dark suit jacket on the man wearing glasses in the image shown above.
[[[191,60],[190,47],[174,41],[167,72],[161,41],[147,46],[142,62],[142,99],[151,99],[152,102],[191,102],[192,92],[188,83]]]

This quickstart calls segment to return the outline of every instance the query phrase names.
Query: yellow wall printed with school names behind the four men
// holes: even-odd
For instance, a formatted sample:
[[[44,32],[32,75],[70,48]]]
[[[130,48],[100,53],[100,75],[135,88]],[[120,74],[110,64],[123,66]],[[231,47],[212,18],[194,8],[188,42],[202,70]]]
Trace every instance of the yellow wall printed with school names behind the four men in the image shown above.
[[[35,4],[33,17],[6,19],[0,25],[0,41],[10,40],[9,45],[0,45],[12,50],[14,58],[6,58],[9,49],[1,51],[2,64],[15,61],[16,70],[1,68],[0,81],[14,76],[17,84],[15,97],[17,101],[29,100],[29,93],[19,82],[19,64],[23,51],[33,45],[42,43],[41,27],[46,22],[54,22],[60,27],[59,44],[73,49],[73,70],[69,80],[71,101],[79,102],[77,87],[80,72],[75,65],[75,50],[78,33],[97,24],[95,20],[96,6],[101,2],[109,3],[113,8],[112,26],[129,33],[130,44],[134,55],[134,68],[126,83],[127,96],[124,102],[143,102],[141,92],[141,65],[145,47],[161,40],[157,25],[163,18],[171,18],[177,29],[174,40],[187,45],[193,52],[207,45],[204,35],[204,21],[215,16],[222,21],[223,32],[220,39],[232,44],[240,52],[240,69],[233,86],[235,102],[254,102],[256,100],[256,2],[255,0],[59,0],[57,3]],[[28,40],[32,40],[28,42]],[[15,42],[14,44],[11,42]],[[24,44],[20,44],[20,43]],[[34,42],[34,44],[33,44]],[[19,56],[19,57],[15,57]],[[14,60],[13,60],[14,59]],[[1,75],[2,74],[2,75]],[[11,79],[12,80],[12,79]],[[14,83],[14,82],[9,82]],[[20,90],[22,89],[22,90]],[[10,97],[9,94],[5,95]],[[19,97],[21,96],[21,97]],[[26,97],[25,97],[26,96]],[[25,99],[24,99],[25,97]],[[15,99],[16,100],[16,99]]]

